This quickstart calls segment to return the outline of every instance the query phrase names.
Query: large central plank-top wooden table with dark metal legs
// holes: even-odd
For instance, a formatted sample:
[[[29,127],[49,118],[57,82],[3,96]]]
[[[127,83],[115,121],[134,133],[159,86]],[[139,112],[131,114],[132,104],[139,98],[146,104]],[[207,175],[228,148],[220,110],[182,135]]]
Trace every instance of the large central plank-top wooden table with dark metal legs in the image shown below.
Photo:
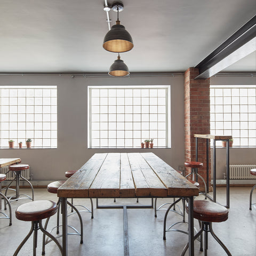
[[[63,256],[67,246],[67,198],[187,197],[189,203],[189,255],[194,255],[193,196],[198,188],[153,153],[94,154],[59,189],[62,199]],[[109,206],[106,206],[109,207]],[[116,208],[116,206],[114,206]],[[127,212],[124,209],[124,255],[129,255]],[[148,207],[148,205],[146,205]],[[150,206],[151,207],[151,206]],[[126,226],[127,227],[127,226]]]

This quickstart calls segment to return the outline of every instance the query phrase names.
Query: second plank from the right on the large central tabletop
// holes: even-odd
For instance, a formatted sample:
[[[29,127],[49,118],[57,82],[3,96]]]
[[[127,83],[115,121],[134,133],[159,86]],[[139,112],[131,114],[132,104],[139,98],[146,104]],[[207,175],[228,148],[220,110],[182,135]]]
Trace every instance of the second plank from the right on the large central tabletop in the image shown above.
[[[140,153],[127,154],[131,166],[135,195],[149,197],[165,197],[167,189],[158,179],[155,172],[147,164]]]

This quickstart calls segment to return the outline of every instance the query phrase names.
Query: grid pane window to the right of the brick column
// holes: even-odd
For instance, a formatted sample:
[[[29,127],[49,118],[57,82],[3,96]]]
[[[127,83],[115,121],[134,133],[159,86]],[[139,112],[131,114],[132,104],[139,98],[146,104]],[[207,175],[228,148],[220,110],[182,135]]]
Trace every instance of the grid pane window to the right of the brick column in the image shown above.
[[[233,146],[256,147],[255,85],[211,85],[210,103],[212,134],[232,135]]]

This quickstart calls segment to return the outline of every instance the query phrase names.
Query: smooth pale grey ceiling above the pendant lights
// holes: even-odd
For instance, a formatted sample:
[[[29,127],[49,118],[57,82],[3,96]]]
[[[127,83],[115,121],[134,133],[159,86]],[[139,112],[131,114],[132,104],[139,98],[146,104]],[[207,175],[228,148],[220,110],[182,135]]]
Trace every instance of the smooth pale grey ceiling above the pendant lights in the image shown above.
[[[109,5],[114,1],[109,1]],[[195,67],[256,13],[255,0],[124,0],[119,13],[134,47],[130,72]],[[107,73],[104,0],[2,0],[0,73]],[[117,13],[109,12],[111,25]],[[223,71],[256,71],[255,52]]]

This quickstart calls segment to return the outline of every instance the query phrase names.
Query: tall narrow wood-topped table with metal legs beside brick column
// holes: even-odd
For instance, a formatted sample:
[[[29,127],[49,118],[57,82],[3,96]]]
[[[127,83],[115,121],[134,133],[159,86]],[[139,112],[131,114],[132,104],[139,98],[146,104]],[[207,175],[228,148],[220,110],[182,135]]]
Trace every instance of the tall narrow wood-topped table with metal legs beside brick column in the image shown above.
[[[232,139],[231,135],[211,135],[211,134],[194,134],[196,138],[196,161],[198,161],[198,138],[206,139],[206,187],[207,193],[209,193],[209,142],[213,139],[213,198],[207,195],[213,202],[216,203],[216,141],[227,141],[226,150],[226,182],[227,182],[227,205],[223,205],[229,208],[229,139]]]

